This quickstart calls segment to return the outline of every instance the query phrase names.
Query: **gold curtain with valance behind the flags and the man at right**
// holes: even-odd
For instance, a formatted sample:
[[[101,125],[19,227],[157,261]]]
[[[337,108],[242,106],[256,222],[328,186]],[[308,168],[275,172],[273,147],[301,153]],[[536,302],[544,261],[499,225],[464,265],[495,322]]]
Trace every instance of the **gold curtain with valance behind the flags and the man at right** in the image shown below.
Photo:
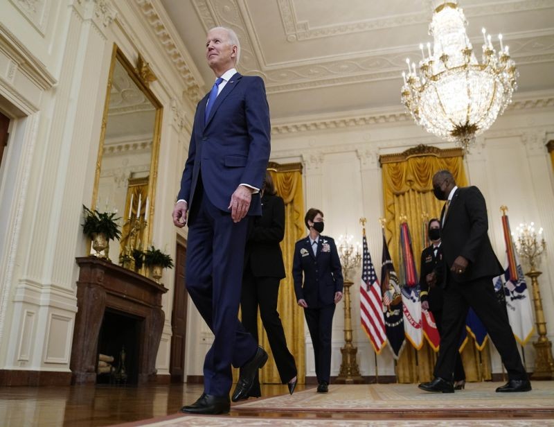
[[[438,218],[443,202],[432,192],[433,175],[441,169],[448,169],[454,175],[458,186],[467,185],[461,149],[440,150],[429,146],[417,146],[397,155],[384,155],[379,159],[383,169],[383,194],[385,209],[385,237],[396,270],[400,216],[406,216],[410,228],[415,265],[420,267],[421,251],[424,247],[425,228],[429,218]],[[467,381],[490,379],[490,354],[488,343],[483,352],[471,345],[463,349],[462,359]],[[433,377],[436,354],[424,338],[424,345],[417,351],[406,340],[406,347],[397,360],[396,375],[400,383],[429,381]]]

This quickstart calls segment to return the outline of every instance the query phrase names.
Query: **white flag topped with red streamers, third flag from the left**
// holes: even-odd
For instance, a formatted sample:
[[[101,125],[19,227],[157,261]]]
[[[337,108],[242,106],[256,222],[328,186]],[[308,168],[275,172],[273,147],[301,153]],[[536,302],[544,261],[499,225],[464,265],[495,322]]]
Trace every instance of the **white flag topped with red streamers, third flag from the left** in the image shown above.
[[[415,349],[423,345],[421,320],[420,283],[415,270],[411,236],[408,223],[400,224],[400,289],[402,290],[402,312],[404,332]]]

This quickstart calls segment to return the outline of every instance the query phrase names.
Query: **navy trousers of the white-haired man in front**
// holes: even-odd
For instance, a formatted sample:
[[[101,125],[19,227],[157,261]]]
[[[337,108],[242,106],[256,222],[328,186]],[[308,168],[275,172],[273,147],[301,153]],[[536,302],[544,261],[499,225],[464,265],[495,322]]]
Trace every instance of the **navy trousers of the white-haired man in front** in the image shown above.
[[[231,214],[215,207],[202,189],[190,212],[186,288],[214,334],[204,360],[204,392],[229,396],[231,364],[241,367],[258,345],[238,320],[244,245],[250,217],[233,223]],[[195,209],[196,208],[196,209]]]

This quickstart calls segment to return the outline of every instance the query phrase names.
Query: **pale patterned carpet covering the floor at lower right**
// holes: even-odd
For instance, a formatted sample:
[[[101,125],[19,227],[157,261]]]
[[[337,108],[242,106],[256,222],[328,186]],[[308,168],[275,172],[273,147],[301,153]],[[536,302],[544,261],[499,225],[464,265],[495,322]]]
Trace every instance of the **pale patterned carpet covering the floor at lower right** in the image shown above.
[[[331,385],[294,395],[233,404],[224,416],[171,415],[125,426],[554,426],[554,382],[501,394],[501,383],[469,383],[454,394],[430,394],[412,384]]]

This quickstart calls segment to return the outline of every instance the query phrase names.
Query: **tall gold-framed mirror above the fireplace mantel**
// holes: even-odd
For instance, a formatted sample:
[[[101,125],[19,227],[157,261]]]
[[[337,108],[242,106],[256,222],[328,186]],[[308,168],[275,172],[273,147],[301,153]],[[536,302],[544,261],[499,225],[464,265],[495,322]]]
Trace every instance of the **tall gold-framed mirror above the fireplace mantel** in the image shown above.
[[[149,87],[154,80],[140,55],[134,66],[114,45],[92,206],[121,217],[121,239],[111,241],[104,255],[132,270],[133,250],[152,241],[162,114]]]

